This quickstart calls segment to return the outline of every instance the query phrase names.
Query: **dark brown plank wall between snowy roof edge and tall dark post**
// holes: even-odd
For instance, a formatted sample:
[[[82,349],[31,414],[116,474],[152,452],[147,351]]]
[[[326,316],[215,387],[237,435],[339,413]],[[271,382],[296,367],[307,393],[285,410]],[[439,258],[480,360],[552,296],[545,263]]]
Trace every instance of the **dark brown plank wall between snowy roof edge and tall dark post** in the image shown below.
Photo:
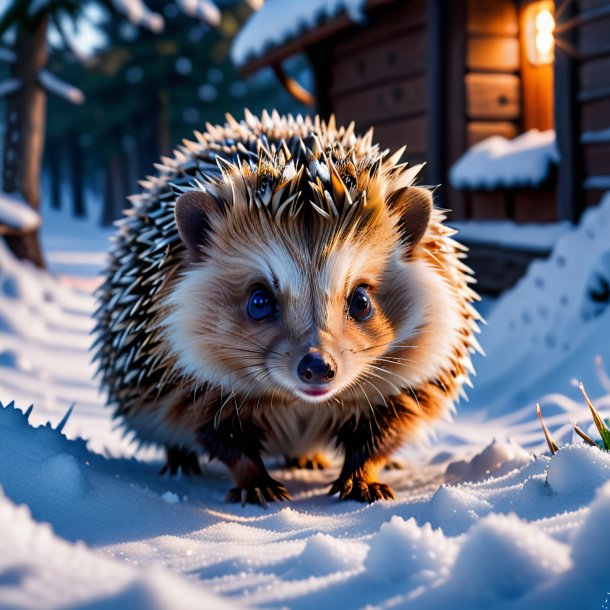
[[[407,145],[405,158],[428,153],[426,0],[404,0],[371,13],[333,44],[329,106],[339,123],[355,121],[392,150]]]

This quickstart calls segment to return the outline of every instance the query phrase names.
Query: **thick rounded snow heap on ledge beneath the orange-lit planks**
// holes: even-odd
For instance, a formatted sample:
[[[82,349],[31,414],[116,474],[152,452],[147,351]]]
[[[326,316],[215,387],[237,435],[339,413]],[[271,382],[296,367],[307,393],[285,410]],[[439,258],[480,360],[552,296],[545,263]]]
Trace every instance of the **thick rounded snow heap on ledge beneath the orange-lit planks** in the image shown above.
[[[559,162],[555,131],[530,131],[508,140],[492,136],[466,151],[449,173],[456,189],[540,186]]]

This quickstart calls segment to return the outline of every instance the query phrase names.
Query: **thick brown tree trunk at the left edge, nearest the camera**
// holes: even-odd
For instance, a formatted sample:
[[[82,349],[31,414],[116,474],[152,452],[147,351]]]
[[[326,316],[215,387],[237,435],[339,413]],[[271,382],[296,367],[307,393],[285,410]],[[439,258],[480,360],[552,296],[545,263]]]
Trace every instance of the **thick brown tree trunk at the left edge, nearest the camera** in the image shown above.
[[[17,32],[15,52],[17,60],[11,66],[11,76],[21,81],[21,88],[8,99],[4,190],[20,193],[38,211],[47,96],[38,85],[37,76],[48,58],[46,18],[32,32],[25,29]],[[38,231],[5,239],[17,258],[29,260],[38,267],[45,266]]]

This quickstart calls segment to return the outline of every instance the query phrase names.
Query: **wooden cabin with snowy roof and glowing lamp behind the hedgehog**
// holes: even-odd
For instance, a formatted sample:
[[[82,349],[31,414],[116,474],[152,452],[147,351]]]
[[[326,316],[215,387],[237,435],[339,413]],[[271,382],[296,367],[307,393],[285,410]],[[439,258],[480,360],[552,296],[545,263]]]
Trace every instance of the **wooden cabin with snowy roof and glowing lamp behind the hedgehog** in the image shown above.
[[[383,146],[407,144],[410,162],[427,162],[424,181],[441,185],[452,220],[574,222],[610,190],[610,0],[368,0],[359,15],[330,4],[267,0],[235,42],[241,71],[281,73],[287,58],[305,53],[317,111],[361,131],[374,126]],[[295,10],[311,14],[291,22]],[[551,45],[537,61],[542,10],[553,17],[554,53]],[[278,32],[282,22],[292,25]],[[538,183],[451,186],[452,166],[478,142],[552,128],[559,160]],[[545,254],[471,249],[489,292]]]

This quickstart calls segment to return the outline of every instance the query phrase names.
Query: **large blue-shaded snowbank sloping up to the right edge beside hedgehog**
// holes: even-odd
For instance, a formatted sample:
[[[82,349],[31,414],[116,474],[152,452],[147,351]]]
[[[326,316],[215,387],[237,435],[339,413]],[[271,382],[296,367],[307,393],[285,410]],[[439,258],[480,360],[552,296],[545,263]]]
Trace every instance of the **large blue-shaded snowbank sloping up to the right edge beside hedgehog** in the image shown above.
[[[471,408],[499,413],[529,403],[533,410],[549,392],[577,392],[573,378],[590,394],[603,389],[594,362],[610,361],[608,235],[610,194],[498,300],[480,338],[487,357],[473,358]]]

